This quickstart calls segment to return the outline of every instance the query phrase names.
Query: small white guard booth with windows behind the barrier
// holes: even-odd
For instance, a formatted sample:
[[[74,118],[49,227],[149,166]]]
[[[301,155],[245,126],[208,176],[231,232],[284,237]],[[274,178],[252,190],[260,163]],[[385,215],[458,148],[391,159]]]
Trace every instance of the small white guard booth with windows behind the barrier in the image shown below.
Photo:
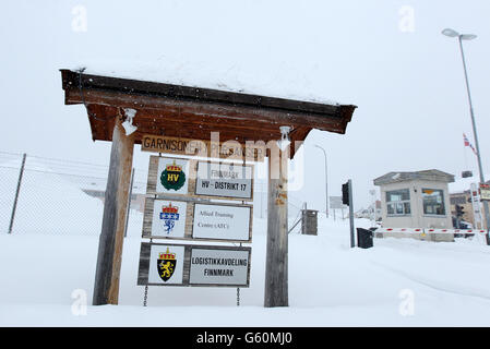
[[[390,172],[374,179],[381,191],[383,227],[453,228],[447,183],[440,170]]]

